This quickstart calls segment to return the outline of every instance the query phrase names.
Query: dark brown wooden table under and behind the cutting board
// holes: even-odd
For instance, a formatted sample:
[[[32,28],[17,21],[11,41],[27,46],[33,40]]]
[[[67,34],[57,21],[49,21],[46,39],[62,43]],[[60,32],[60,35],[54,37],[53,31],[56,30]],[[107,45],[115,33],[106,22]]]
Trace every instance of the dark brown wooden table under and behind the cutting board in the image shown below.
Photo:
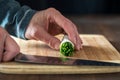
[[[67,16],[77,26],[80,34],[102,34],[120,52],[120,16],[83,15]],[[120,73],[72,75],[17,75],[0,74],[0,80],[120,80]]]

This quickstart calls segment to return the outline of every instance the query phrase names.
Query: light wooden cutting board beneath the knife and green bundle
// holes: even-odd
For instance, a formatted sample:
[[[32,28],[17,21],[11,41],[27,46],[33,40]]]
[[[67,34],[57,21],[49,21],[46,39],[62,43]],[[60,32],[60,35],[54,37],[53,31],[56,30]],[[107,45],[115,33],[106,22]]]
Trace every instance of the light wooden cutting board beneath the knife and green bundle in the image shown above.
[[[63,35],[56,37],[61,40]],[[75,51],[72,57],[120,63],[119,52],[104,36],[80,35],[80,37],[83,40],[83,50]],[[14,39],[24,54],[60,57],[59,51],[51,49],[41,41]],[[10,74],[91,74],[120,72],[120,67],[58,66],[7,62],[0,64],[0,72]]]

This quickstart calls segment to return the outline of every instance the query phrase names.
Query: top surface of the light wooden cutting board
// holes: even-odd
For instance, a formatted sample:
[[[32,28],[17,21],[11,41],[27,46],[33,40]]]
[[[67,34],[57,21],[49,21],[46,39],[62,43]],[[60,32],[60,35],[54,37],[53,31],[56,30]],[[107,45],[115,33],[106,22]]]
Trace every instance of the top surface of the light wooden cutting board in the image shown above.
[[[63,35],[56,36],[60,40]],[[109,41],[102,35],[80,35],[83,41],[83,49],[75,51],[72,57],[88,60],[106,60],[119,61],[119,52],[109,43]],[[21,40],[14,38],[20,45],[21,52],[30,55],[39,56],[53,56],[60,57],[60,52],[51,49],[48,45],[41,41],[35,40]]]

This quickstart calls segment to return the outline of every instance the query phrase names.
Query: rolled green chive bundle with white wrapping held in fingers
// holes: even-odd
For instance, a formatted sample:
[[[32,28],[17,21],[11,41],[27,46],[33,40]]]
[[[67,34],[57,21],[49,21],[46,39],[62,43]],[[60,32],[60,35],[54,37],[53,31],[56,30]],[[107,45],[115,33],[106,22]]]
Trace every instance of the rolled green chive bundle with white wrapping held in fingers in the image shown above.
[[[64,56],[72,56],[74,51],[74,44],[65,35],[60,44],[60,53]]]

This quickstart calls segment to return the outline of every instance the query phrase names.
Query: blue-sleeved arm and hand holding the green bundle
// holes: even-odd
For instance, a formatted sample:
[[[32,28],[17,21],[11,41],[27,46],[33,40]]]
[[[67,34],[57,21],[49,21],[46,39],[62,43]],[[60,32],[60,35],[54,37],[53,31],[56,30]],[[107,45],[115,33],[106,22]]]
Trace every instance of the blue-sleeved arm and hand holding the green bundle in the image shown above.
[[[0,0],[0,25],[14,36],[41,40],[53,49],[59,49],[60,45],[54,36],[66,33],[75,49],[82,48],[75,24],[54,8],[36,12],[27,6],[21,7],[15,0]]]

